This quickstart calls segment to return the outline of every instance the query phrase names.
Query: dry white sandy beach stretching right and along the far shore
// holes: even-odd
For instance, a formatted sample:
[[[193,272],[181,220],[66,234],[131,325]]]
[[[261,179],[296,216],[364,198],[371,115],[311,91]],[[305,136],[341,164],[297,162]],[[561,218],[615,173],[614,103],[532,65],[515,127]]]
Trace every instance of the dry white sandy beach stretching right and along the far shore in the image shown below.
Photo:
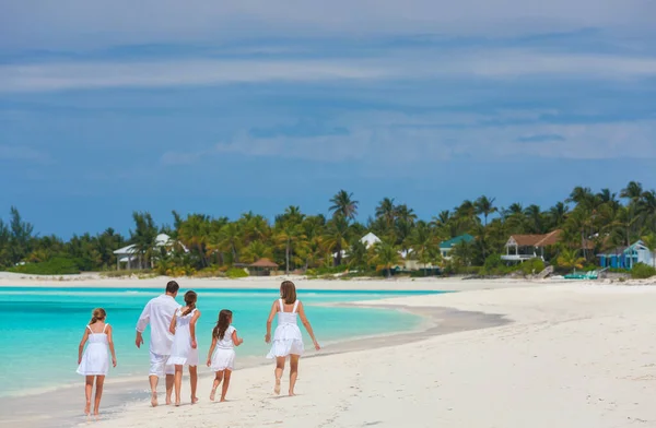
[[[180,284],[276,287],[272,280]],[[126,286],[121,280],[99,285],[112,282]],[[0,285],[17,283],[37,285],[0,280]],[[151,408],[140,402],[84,426],[656,427],[656,287],[548,281],[298,283],[301,298],[303,289],[336,286],[461,289],[366,304],[480,311],[512,322],[420,341],[395,336],[387,347],[368,350],[330,355],[327,348],[328,355],[302,360],[293,399],[272,396],[272,367],[254,367],[234,372],[229,403],[209,402],[211,380],[202,378],[195,406]],[[145,376],[143,382],[145,388]],[[188,402],[187,385],[183,394]]]

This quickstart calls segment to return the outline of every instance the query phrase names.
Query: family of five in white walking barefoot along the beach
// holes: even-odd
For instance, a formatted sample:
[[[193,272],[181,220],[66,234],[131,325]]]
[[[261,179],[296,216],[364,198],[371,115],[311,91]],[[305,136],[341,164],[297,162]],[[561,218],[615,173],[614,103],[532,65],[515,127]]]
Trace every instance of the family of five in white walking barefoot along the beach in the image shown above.
[[[189,370],[191,385],[191,404],[198,402],[196,390],[198,385],[199,350],[196,335],[196,324],[201,312],[196,308],[198,295],[195,292],[185,293],[185,306],[180,306],[177,297],[179,285],[175,281],[166,284],[165,294],[151,299],[147,305],[139,321],[137,322],[137,347],[143,344],[143,331],[150,324],[150,391],[151,404],[157,406],[157,384],[161,378],[166,381],[166,404],[172,404],[172,395],[175,390],[175,405],[180,404],[180,390],[183,382],[183,369]],[[278,326],[271,341],[271,324],[278,316]],[[116,367],[116,353],[112,338],[112,326],[107,324],[107,314],[104,309],[93,310],[93,318],[84,330],[80,342],[78,373],[85,376],[86,405],[84,413],[91,415],[91,399],[95,380],[94,415],[98,415],[103,384],[105,376],[109,370],[109,357],[107,349],[112,353],[112,364]],[[271,343],[267,358],[276,359],[276,383],[273,392],[280,394],[281,379],[284,371],[285,360],[290,358],[290,388],[289,394],[294,395],[294,387],[298,376],[298,360],[304,352],[303,337],[297,325],[301,321],[312,341],[315,349],[319,344],[314,335],[312,325],[305,316],[303,304],[296,298],[296,286],[291,281],[284,281],[280,286],[280,299],[271,305],[267,319],[267,333],[265,341]],[[86,349],[84,349],[84,345]],[[233,313],[227,309],[219,312],[219,320],[212,330],[212,344],[210,346],[207,366],[215,373],[210,400],[214,401],[216,390],[221,388],[221,401],[230,387],[232,371],[235,362],[235,346],[239,346],[244,340],[237,335],[233,326]]]

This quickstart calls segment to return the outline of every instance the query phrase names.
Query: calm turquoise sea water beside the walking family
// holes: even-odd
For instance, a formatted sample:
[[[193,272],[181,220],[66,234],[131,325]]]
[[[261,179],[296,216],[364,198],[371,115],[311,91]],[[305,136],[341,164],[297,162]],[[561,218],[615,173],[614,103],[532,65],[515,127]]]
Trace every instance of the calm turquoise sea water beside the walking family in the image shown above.
[[[181,302],[180,290],[178,301]],[[134,324],[149,299],[161,294],[144,288],[0,288],[0,346],[3,368],[0,370],[0,396],[22,394],[80,382],[78,345],[91,318],[91,310],[102,307],[107,322],[114,326],[118,367],[110,377],[148,373],[148,332],[145,347],[134,346]],[[337,301],[356,301],[415,292],[312,290],[300,298],[319,343],[329,344],[349,337],[374,335],[417,328],[421,319],[385,309],[339,308],[317,306]],[[426,293],[421,293],[426,294]],[[263,356],[266,321],[274,289],[201,289],[198,292],[198,337],[204,360],[211,331],[221,309],[234,312],[233,323],[245,342],[237,349],[239,358]],[[303,329],[302,329],[303,330]],[[304,331],[306,344],[311,344]]]

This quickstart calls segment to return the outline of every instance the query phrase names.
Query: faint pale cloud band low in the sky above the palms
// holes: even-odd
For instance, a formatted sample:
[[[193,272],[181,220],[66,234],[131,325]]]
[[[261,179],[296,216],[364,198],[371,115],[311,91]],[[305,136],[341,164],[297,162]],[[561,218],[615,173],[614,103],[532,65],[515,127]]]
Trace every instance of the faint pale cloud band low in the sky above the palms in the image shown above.
[[[424,122],[426,119],[423,118]],[[389,117],[387,117],[389,120]],[[360,123],[360,124],[358,124]],[[244,156],[297,158],[314,162],[370,163],[382,166],[408,166],[417,163],[472,158],[507,160],[512,158],[563,159],[656,159],[656,120],[590,124],[526,123],[476,126],[466,129],[399,127],[402,118],[382,124],[353,118],[345,135],[312,138],[253,138],[246,133],[204,152],[166,154],[168,157],[201,159],[224,153]],[[544,141],[523,141],[526,135],[551,135]]]

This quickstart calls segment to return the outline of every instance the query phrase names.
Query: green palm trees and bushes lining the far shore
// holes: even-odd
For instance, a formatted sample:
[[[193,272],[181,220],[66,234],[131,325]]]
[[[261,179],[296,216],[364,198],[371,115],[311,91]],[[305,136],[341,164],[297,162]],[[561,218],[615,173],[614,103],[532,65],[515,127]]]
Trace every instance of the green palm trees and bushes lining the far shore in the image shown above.
[[[641,238],[651,248],[656,246],[656,192],[637,182],[630,182],[619,194],[577,187],[566,200],[547,209],[495,203],[494,198],[482,195],[420,219],[408,205],[384,198],[372,216],[358,222],[359,202],[340,190],[327,203],[328,215],[307,215],[298,206],[289,206],[272,221],[251,212],[235,219],[174,212],[171,225],[157,225],[150,213],[137,212],[128,236],[108,228],[67,241],[36,235],[34,226],[11,207],[8,221],[0,219],[0,269],[50,274],[113,271],[117,266],[114,251],[133,245],[131,266],[153,275],[241,275],[236,272],[243,270],[231,268],[268,258],[285,272],[302,271],[309,276],[389,276],[402,262],[399,252],[409,254],[423,271],[414,276],[429,275],[430,265],[442,266],[445,274],[505,275],[543,269],[540,260],[507,265],[501,259],[508,237],[516,234],[561,229],[560,245],[549,248],[546,255],[563,271],[590,269],[599,251]],[[383,242],[366,248],[360,239],[368,231]],[[171,242],[156,247],[162,233]],[[442,260],[440,243],[464,234],[475,239],[458,242],[450,251],[453,258]]]

